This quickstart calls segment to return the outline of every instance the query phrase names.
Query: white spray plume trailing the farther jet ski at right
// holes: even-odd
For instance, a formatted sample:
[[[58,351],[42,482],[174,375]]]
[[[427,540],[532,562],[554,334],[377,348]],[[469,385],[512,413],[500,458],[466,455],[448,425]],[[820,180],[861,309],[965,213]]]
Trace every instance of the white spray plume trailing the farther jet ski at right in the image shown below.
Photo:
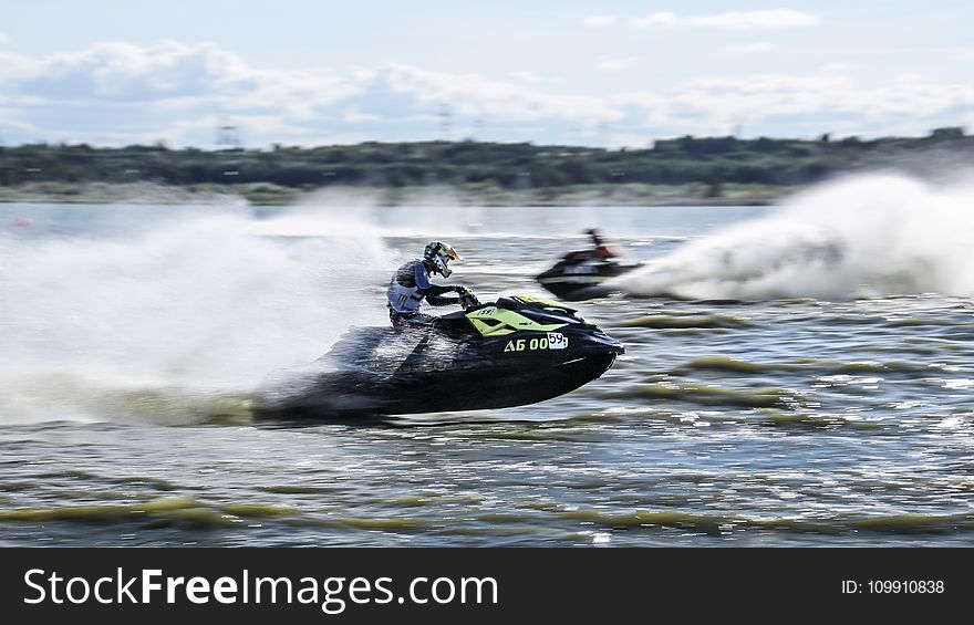
[[[620,278],[635,295],[846,299],[974,294],[974,188],[871,175],[687,242]]]

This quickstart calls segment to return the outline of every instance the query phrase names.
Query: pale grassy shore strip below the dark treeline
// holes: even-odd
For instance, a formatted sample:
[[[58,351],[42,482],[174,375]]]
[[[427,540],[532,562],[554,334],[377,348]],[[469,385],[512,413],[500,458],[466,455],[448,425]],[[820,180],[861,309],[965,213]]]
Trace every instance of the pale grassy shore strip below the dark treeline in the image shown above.
[[[270,184],[157,185],[151,183],[32,183],[0,186],[0,202],[22,204],[215,204],[252,206],[313,205],[345,199],[367,206],[766,206],[795,187],[724,185],[572,185],[485,191],[457,186],[330,186],[294,189]]]

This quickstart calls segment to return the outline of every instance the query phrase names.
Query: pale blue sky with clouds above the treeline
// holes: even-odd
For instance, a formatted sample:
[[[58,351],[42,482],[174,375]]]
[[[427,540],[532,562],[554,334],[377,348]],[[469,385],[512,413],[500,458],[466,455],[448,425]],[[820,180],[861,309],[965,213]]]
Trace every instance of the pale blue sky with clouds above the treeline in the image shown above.
[[[970,132],[971,23],[970,0],[0,0],[0,142]]]

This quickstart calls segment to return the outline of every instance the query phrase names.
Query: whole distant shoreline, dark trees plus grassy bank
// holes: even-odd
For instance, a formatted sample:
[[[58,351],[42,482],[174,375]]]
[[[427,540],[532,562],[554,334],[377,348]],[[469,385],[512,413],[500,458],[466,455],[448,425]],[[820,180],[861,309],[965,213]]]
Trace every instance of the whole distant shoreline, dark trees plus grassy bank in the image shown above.
[[[974,136],[961,127],[871,140],[684,136],[618,150],[475,140],[217,150],[41,143],[0,146],[0,201],[755,206],[852,174],[939,179],[972,157]]]

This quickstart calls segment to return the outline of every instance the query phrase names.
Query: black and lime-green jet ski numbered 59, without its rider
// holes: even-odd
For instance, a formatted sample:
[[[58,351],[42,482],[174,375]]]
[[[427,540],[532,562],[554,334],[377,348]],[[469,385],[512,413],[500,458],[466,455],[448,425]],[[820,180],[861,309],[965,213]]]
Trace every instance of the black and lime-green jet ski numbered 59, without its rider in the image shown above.
[[[258,416],[360,417],[507,408],[543,402],[612,366],[622,343],[574,309],[516,295],[432,325],[353,327],[290,389],[257,402]]]

